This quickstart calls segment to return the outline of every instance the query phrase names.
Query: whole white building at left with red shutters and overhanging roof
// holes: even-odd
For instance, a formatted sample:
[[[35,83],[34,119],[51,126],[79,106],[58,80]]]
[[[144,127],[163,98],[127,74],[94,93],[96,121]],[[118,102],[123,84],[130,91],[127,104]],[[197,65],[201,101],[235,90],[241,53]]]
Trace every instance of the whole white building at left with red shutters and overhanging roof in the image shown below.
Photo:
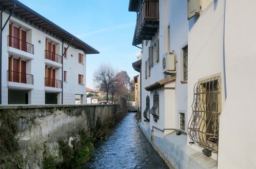
[[[99,53],[24,4],[0,1],[1,105],[86,103],[86,55]]]

